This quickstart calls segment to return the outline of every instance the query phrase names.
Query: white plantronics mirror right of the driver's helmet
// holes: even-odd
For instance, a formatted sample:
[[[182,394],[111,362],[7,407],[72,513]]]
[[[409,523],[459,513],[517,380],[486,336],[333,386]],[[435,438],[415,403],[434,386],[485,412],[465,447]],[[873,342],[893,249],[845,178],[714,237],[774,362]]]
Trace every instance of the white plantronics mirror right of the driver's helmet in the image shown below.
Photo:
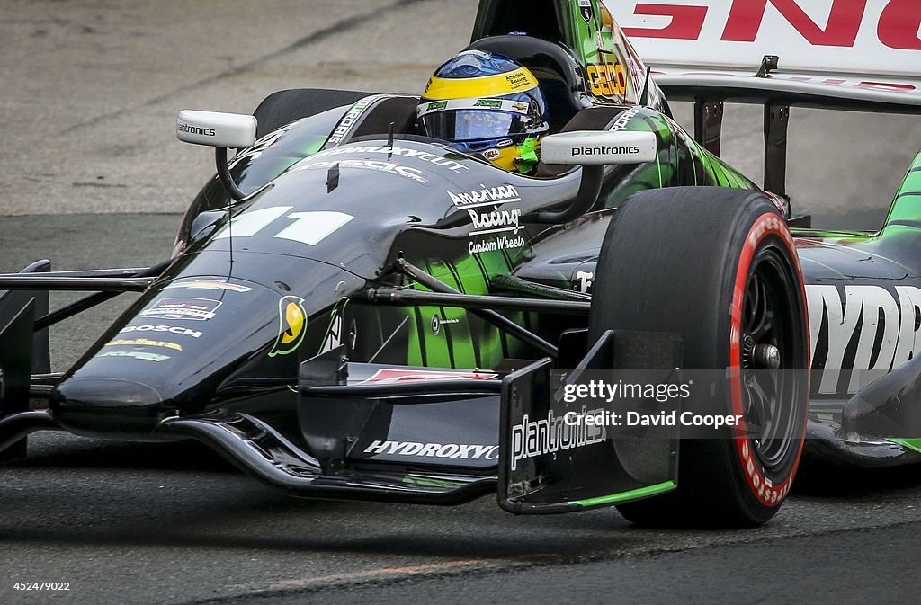
[[[656,159],[658,146],[653,133],[577,131],[544,137],[541,156],[547,164],[569,166],[642,164]]]

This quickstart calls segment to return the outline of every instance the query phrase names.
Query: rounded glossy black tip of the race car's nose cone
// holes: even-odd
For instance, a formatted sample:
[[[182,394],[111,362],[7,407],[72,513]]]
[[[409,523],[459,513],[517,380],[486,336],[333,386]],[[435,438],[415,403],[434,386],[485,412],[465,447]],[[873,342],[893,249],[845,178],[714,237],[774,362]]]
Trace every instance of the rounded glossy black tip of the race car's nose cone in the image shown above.
[[[51,407],[55,420],[68,431],[116,438],[151,433],[165,412],[156,389],[120,378],[64,380],[52,392]]]

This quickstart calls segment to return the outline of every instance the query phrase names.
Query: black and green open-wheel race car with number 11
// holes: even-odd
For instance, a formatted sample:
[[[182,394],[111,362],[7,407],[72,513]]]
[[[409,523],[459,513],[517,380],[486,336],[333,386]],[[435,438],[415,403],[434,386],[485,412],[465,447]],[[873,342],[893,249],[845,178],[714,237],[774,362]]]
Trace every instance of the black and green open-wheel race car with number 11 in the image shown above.
[[[810,230],[784,191],[790,106],[915,91],[831,93],[782,55],[650,74],[598,0],[483,0],[469,48],[540,81],[534,176],[420,136],[414,96],[183,111],[218,174],[171,258],[0,276],[5,456],[37,430],[192,438],[301,497],[720,525],[772,518],[802,455],[921,460],[921,156],[878,233]],[[765,106],[764,188],[718,157],[734,100]],[[95,294],[49,313],[61,289]],[[51,374],[47,328],[130,291]]]

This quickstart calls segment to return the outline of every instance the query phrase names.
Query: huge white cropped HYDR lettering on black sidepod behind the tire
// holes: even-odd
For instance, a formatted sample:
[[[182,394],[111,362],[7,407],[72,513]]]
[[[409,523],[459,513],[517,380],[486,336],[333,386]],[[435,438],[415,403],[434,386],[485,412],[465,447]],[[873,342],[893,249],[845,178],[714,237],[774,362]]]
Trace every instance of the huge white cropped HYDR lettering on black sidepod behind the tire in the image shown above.
[[[822,395],[856,393],[921,354],[921,289],[913,285],[807,285],[806,297]]]

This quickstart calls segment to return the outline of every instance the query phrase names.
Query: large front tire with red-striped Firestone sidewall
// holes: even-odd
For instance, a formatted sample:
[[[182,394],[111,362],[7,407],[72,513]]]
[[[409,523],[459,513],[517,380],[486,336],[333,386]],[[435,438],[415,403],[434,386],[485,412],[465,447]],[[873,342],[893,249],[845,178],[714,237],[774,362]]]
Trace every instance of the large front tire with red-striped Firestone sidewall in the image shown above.
[[[720,382],[726,413],[741,412],[747,424],[757,413],[774,432],[756,440],[727,428],[726,438],[683,439],[678,488],[618,509],[647,526],[740,527],[774,517],[799,464],[809,400],[802,274],[775,204],[728,188],[637,193],[613,216],[596,273],[589,342],[606,330],[675,332],[687,368],[752,366],[752,351],[764,345],[759,351],[779,352],[781,369],[800,370],[759,385],[775,389],[773,399],[752,396],[744,379]]]

